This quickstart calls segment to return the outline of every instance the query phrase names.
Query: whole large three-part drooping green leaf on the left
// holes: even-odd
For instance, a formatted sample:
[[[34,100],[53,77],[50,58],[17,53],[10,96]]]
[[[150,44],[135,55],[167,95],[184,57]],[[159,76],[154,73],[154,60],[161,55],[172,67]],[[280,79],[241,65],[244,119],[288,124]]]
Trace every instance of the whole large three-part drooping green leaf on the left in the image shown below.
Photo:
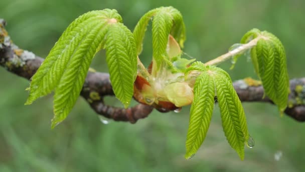
[[[73,21],[33,76],[26,104],[55,90],[52,128],[63,121],[80,94],[95,53],[105,46],[110,80],[116,97],[127,107],[136,75],[132,33],[116,10],[86,13]],[[118,81],[119,80],[119,81]]]

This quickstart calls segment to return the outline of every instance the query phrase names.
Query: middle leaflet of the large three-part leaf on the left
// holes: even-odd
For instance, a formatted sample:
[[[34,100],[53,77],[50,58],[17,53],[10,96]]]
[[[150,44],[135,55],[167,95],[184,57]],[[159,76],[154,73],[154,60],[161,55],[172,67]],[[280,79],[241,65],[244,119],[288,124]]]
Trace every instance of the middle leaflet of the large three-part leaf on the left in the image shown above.
[[[96,48],[100,44],[100,40],[107,31],[104,28],[106,23],[97,21],[96,27],[91,29],[83,41],[79,43],[71,60],[68,62],[64,73],[56,87],[54,95],[54,118],[51,127],[54,128],[58,123],[63,121],[72,110],[77,98],[79,97],[82,85],[92,57],[96,52]],[[96,37],[100,37],[97,38]]]

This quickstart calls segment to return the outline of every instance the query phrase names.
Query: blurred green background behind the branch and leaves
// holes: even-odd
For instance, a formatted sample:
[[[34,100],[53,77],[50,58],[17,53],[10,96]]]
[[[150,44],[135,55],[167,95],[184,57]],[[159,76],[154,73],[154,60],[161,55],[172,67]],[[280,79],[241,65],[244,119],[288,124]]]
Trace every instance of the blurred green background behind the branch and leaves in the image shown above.
[[[275,34],[284,44],[290,78],[304,76],[305,1],[41,1],[1,0],[0,18],[14,42],[45,57],[64,29],[79,15],[105,8],[117,9],[133,29],[150,9],[173,6],[184,16],[187,41],[184,51],[203,62],[225,52],[248,30]],[[141,59],[151,59],[151,36],[145,39]],[[92,66],[107,71],[104,51]],[[233,80],[255,77],[246,58],[229,70]],[[83,99],[54,130],[52,97],[24,106],[29,81],[0,68],[0,171],[302,171],[305,169],[305,126],[279,117],[275,106],[244,103],[255,146],[245,160],[230,148],[215,108],[208,135],[198,153],[185,160],[189,108],[180,113],[154,111],[132,125],[100,122]],[[114,98],[108,104],[121,106]]]

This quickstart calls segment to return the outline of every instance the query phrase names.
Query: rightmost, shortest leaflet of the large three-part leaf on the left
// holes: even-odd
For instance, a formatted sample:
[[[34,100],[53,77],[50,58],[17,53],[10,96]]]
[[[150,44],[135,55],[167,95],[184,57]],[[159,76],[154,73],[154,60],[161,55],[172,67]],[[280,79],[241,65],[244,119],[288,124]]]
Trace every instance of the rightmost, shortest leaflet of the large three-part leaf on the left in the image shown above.
[[[136,77],[135,42],[132,33],[121,23],[111,25],[106,36],[109,38],[105,43],[106,61],[113,92],[127,108]]]

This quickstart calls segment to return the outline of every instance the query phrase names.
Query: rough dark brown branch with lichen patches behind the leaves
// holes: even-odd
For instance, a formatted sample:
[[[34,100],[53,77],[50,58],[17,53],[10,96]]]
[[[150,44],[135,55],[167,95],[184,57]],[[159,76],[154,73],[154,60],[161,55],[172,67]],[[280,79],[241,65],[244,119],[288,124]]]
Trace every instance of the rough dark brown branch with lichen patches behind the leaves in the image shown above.
[[[5,21],[0,19],[0,65],[9,72],[31,79],[44,59],[16,46],[10,40],[8,32],[4,28],[5,24]],[[233,86],[242,102],[272,103],[270,99],[263,97],[264,90],[259,84],[252,84],[241,79],[233,82]],[[305,121],[305,77],[291,79],[290,90],[285,114],[297,121]],[[115,121],[135,123],[137,120],[147,117],[156,108],[144,104],[138,104],[128,109],[105,105],[104,97],[114,96],[114,93],[109,74],[102,72],[88,72],[80,96],[88,102],[97,114]]]

